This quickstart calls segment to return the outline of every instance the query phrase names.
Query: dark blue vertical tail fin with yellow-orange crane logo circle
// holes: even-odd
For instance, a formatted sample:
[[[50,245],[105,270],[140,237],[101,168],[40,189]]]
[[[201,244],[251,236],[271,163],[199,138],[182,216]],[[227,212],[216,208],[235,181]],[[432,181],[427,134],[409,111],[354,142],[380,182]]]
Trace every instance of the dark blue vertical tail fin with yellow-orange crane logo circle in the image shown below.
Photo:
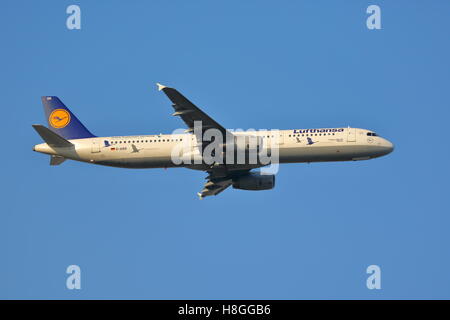
[[[64,139],[95,137],[58,97],[44,96],[41,99],[50,130]]]

